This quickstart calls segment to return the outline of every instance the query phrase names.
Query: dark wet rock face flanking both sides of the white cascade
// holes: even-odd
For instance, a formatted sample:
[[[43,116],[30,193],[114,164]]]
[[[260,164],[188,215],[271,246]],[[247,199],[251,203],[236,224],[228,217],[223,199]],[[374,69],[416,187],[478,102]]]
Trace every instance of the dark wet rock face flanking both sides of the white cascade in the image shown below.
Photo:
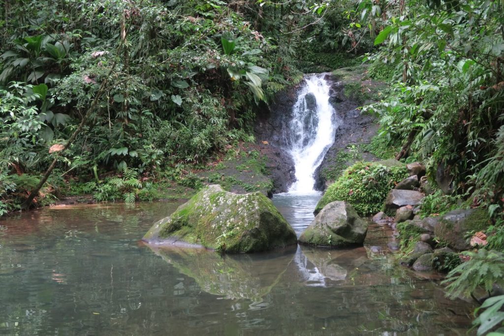
[[[347,82],[339,80],[332,74],[327,74],[325,80],[330,85],[330,102],[336,112],[334,122],[337,122],[339,126],[336,130],[334,144],[314,173],[316,180],[314,187],[317,190],[325,190],[327,178],[322,172],[325,169],[334,170],[334,163],[339,153],[350,151],[349,147],[352,144],[360,146],[369,143],[378,128],[374,117],[361,115],[357,110],[357,107],[362,106],[362,102],[345,96],[344,90]],[[289,121],[292,119],[292,107],[297,100],[300,86],[299,84],[279,92],[270,106],[262,104],[257,113],[254,132],[261,153],[270,159],[268,168],[273,179],[273,193],[287,191],[295,181],[294,163],[289,154],[288,139],[291,132]],[[309,118],[309,112],[316,111],[315,97],[307,94],[305,102],[308,109],[306,117],[310,122],[317,121],[316,118]],[[367,152],[360,153],[358,159],[359,161],[379,160]],[[348,162],[346,166],[352,163]]]

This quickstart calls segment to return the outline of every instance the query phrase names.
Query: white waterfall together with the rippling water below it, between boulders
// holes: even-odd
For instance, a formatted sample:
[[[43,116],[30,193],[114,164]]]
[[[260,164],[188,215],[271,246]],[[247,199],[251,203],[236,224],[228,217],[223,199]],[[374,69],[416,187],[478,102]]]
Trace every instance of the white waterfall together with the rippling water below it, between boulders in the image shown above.
[[[321,192],[314,188],[314,173],[333,145],[338,127],[326,75],[311,74],[304,78],[285,139],[294,161],[296,181],[288,192],[273,197],[281,212],[289,209],[283,214],[298,235],[313,220],[313,210],[321,197]]]

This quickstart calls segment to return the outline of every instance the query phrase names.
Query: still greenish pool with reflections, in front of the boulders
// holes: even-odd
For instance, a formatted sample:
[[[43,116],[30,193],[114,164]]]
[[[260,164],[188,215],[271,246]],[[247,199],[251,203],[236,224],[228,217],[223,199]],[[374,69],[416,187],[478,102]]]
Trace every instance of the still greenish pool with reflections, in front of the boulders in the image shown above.
[[[0,334],[457,335],[470,327],[470,303],[394,264],[386,228],[370,227],[365,247],[345,250],[221,257],[142,244],[176,206],[53,207],[0,221]],[[309,217],[285,199],[277,206],[289,221]]]

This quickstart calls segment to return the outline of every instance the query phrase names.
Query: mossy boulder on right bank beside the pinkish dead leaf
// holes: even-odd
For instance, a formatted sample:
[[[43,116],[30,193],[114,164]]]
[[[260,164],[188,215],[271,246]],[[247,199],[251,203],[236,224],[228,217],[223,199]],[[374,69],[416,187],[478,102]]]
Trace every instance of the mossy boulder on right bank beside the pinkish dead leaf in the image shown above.
[[[489,225],[490,218],[485,209],[457,209],[439,219],[434,235],[448,247],[462,251],[471,248],[468,233],[484,231]]]

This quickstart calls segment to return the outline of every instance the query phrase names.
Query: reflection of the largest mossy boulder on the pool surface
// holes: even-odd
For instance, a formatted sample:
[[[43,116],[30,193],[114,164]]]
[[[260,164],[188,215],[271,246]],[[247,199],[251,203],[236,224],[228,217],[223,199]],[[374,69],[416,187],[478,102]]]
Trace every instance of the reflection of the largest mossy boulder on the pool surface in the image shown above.
[[[275,253],[220,255],[204,248],[149,247],[200,288],[227,299],[260,299],[280,280],[295,247]]]

